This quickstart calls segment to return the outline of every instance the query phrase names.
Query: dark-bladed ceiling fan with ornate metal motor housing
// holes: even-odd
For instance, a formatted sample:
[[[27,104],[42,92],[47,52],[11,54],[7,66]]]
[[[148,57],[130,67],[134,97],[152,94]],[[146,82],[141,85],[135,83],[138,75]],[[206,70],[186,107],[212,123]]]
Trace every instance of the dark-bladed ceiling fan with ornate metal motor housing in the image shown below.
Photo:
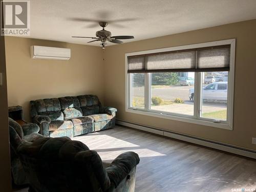
[[[106,31],[104,29],[106,26],[108,26],[108,22],[99,22],[99,25],[103,29],[96,32],[96,37],[83,37],[83,36],[72,36],[72,37],[95,39],[95,40],[91,40],[89,42],[101,41],[102,49],[105,49],[107,41],[113,42],[114,44],[121,44],[123,41],[118,40],[118,39],[133,39],[134,38],[134,36],[111,36],[111,32]]]

